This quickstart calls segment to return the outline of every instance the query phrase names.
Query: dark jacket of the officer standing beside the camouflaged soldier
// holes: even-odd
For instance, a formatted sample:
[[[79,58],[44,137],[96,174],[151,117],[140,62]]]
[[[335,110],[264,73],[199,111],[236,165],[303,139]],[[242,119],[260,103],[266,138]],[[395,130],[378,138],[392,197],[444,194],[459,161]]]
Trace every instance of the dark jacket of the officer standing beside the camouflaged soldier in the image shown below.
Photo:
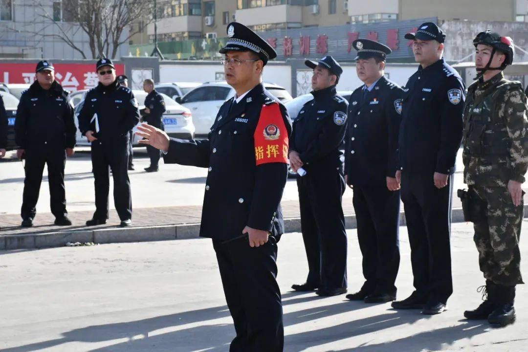
[[[455,172],[465,87],[444,59],[414,73],[403,87],[399,159],[404,172]]]

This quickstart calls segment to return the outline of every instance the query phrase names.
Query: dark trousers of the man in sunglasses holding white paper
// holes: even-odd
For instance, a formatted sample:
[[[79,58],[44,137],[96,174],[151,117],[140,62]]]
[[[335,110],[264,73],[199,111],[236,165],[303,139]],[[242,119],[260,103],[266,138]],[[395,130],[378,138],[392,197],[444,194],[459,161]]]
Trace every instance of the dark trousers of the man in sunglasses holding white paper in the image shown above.
[[[128,178],[128,134],[109,141],[92,142],[92,168],[95,178],[96,211],[93,218],[108,218],[110,169],[114,177],[114,204],[121,221],[132,218],[132,198]]]

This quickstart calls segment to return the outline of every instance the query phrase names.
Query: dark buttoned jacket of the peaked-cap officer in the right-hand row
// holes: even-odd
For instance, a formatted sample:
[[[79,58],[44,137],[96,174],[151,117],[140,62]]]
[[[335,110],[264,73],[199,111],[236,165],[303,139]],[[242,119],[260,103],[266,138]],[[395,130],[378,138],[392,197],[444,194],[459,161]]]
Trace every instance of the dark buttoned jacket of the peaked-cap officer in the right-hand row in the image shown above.
[[[398,169],[398,133],[403,89],[381,77],[363,99],[363,87],[348,101],[345,174],[349,185],[386,186]]]

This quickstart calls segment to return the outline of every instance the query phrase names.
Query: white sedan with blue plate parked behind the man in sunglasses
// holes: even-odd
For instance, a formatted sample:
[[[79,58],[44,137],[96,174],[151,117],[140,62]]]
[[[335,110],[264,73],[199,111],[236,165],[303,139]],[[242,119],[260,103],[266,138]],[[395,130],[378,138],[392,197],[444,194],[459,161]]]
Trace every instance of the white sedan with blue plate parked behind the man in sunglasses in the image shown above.
[[[139,109],[145,108],[145,98],[147,93],[142,90],[133,90],[134,96],[136,97]],[[86,91],[85,91],[86,94]],[[161,94],[165,101],[165,113],[163,114],[163,123],[165,125],[165,132],[169,137],[192,139],[194,138],[194,125],[191,115],[191,111],[173,99],[167,97],[165,94]],[[86,136],[82,136],[79,131],[79,113],[81,112],[82,106],[84,105],[84,99],[75,107],[75,125],[77,126],[77,145],[90,145]],[[141,122],[140,122],[141,123]],[[138,123],[138,125],[140,125]],[[137,125],[134,127],[134,132],[137,131]],[[141,137],[134,134],[134,146],[139,146],[139,140]]]

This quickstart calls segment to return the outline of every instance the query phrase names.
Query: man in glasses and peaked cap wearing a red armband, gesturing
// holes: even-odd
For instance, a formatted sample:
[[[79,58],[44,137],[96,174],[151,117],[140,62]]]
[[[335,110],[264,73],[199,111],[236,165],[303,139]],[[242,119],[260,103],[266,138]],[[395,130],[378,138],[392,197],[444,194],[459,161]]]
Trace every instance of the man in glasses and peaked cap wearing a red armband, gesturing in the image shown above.
[[[146,124],[138,135],[167,153],[165,163],[209,168],[200,235],[213,239],[237,332],[230,351],[279,352],[284,328],[276,259],[291,125],[286,108],[262,85],[263,65],[276,58],[275,50],[240,23],[230,23],[227,32],[220,53],[237,95],[220,108],[209,138],[169,139]]]

